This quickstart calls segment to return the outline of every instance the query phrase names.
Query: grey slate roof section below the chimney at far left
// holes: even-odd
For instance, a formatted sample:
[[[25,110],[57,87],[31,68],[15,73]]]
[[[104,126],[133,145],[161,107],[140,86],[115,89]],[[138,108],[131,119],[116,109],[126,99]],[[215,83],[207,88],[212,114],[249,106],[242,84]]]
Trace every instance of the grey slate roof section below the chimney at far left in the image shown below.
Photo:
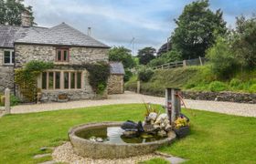
[[[0,25],[0,47],[14,48],[14,41],[27,36],[28,33],[39,33],[47,30],[48,28],[32,26],[5,26]]]

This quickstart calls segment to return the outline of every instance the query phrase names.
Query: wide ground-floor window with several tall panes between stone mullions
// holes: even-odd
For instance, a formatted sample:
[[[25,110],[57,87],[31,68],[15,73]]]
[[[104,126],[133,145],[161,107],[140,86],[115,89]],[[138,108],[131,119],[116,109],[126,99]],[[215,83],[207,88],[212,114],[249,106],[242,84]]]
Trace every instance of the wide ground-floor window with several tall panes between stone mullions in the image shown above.
[[[63,77],[62,77],[63,76]],[[80,89],[82,74],[76,71],[49,71],[42,73],[42,89]],[[62,83],[62,87],[61,87]]]

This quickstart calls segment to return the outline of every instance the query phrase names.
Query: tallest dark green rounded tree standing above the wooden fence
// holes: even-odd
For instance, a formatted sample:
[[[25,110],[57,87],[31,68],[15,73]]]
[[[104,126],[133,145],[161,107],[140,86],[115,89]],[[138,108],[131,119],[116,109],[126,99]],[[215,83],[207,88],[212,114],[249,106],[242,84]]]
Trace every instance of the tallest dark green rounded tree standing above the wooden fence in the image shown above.
[[[226,33],[226,22],[222,12],[213,13],[208,0],[200,0],[186,5],[176,21],[176,29],[171,37],[174,47],[183,59],[205,56],[208,47],[215,42],[215,36]]]

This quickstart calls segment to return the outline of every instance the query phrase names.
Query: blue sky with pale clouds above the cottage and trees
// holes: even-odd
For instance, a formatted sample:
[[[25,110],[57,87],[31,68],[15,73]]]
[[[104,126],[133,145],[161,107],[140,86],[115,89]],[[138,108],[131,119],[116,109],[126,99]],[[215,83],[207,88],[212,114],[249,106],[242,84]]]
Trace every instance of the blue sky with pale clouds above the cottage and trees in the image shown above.
[[[25,0],[32,5],[37,26],[69,26],[108,46],[158,49],[176,28],[174,19],[192,0]],[[227,26],[235,26],[235,17],[256,14],[255,0],[209,0],[213,11],[221,9]]]

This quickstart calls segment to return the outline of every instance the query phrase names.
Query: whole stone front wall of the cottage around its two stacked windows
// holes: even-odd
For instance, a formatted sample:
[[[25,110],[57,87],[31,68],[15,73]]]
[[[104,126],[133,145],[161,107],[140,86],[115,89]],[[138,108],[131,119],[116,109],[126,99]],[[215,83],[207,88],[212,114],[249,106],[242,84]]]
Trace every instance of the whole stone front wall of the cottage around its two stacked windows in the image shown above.
[[[72,65],[81,65],[96,61],[108,62],[107,48],[69,47],[69,63],[56,63],[56,46],[16,45],[16,67],[22,67],[31,60],[54,62],[53,70],[74,70]],[[68,95],[69,100],[95,97],[88,80],[86,69],[82,71],[83,83],[81,89],[42,90],[42,102],[57,101],[60,94]],[[41,79],[38,79],[40,83]],[[38,85],[40,88],[41,86]]]

